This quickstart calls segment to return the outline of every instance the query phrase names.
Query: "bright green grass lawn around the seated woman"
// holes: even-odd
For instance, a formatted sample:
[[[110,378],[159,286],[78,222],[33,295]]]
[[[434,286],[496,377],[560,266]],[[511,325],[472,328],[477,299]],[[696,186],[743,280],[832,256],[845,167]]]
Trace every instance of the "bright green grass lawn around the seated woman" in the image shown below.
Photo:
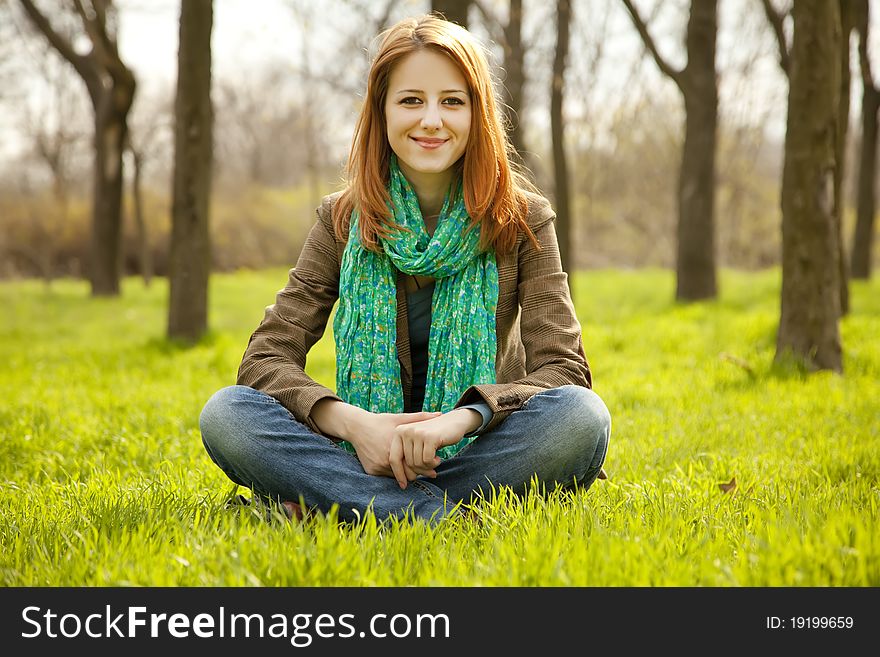
[[[0,584],[880,585],[876,279],[852,285],[839,376],[773,367],[778,271],[724,272],[719,301],[687,306],[668,272],[580,273],[610,478],[434,530],[223,508],[198,414],[285,280],[214,277],[192,348],[162,337],[164,281],[0,284]],[[313,354],[332,386],[329,335]]]

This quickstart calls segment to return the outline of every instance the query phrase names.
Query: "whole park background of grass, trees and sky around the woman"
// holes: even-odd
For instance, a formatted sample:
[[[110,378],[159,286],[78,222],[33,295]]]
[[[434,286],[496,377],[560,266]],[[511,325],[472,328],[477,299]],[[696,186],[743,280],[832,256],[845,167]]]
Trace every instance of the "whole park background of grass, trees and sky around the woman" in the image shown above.
[[[590,491],[430,531],[226,509],[197,420],[341,184],[372,37],[432,3],[3,0],[0,582],[878,585],[880,12],[798,4],[433,3],[493,54],[614,428]]]

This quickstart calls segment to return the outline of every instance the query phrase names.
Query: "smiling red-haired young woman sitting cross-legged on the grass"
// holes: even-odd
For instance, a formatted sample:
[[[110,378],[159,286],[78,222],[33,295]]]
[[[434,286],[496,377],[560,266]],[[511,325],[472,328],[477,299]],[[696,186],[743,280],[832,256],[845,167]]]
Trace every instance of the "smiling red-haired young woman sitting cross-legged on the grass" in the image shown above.
[[[326,197],[238,384],[200,418],[240,485],[354,520],[437,522],[491,487],[589,487],[591,390],[550,204],[511,166],[489,67],[436,16],[382,35],[344,191]],[[336,391],[306,356],[338,300]]]

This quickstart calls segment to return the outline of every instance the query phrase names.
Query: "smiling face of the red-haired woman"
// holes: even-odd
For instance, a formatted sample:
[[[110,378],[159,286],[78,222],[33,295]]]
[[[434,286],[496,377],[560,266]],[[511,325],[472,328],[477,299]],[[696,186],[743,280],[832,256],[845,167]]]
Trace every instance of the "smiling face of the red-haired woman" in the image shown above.
[[[407,178],[447,174],[464,154],[471,130],[471,99],[461,71],[433,50],[407,55],[391,71],[385,121]]]

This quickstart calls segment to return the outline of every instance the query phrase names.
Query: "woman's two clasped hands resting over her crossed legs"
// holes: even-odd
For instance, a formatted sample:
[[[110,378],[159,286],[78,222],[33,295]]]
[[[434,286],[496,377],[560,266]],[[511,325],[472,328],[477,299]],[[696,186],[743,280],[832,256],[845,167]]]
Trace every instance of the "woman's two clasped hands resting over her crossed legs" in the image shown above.
[[[436,477],[442,460],[437,450],[456,444],[481,422],[477,411],[466,408],[448,413],[369,413],[351,443],[367,474],[394,477],[406,488],[416,477]]]

